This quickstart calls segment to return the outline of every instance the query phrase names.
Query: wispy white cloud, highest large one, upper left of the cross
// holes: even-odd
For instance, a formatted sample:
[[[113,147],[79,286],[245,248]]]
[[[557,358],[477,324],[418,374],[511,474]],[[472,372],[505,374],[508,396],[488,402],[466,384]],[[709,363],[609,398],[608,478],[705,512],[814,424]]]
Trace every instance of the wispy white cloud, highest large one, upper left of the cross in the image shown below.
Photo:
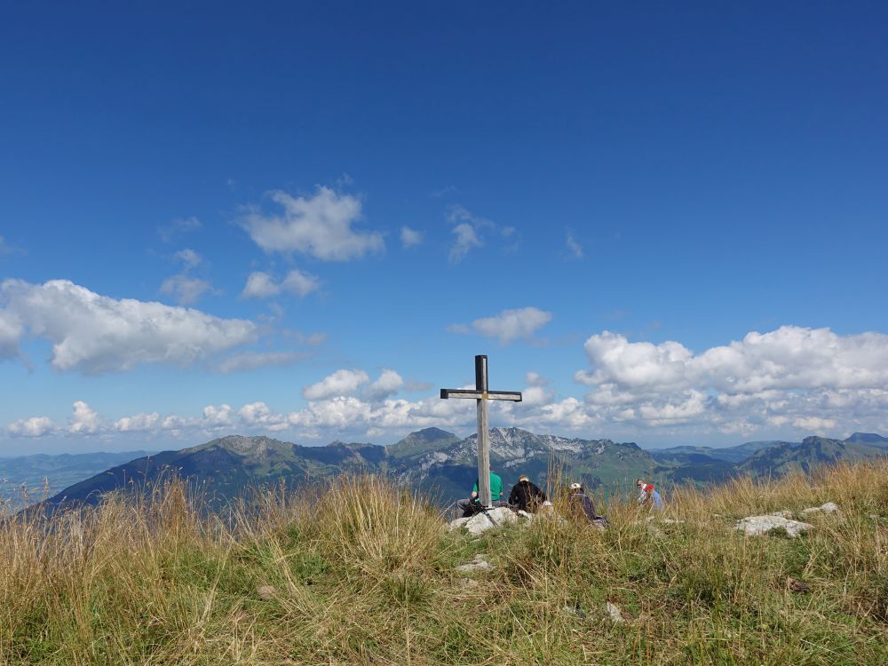
[[[324,261],[347,261],[385,249],[379,232],[352,228],[361,219],[357,197],[322,186],[308,198],[281,191],[269,197],[281,206],[281,213],[265,214],[254,207],[242,218],[250,238],[266,252],[297,251]]]

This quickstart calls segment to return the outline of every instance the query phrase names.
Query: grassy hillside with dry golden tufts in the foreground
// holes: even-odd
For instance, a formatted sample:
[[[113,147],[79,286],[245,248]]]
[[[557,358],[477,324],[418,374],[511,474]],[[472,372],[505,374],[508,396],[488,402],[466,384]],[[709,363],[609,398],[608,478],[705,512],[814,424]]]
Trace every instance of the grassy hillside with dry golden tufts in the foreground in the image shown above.
[[[226,516],[168,480],[0,521],[0,664],[884,663],[885,472],[687,487],[665,514],[683,523],[611,502],[605,532],[540,519],[474,540],[379,477]],[[827,501],[841,513],[798,539],[732,528]],[[479,553],[492,568],[457,571]]]

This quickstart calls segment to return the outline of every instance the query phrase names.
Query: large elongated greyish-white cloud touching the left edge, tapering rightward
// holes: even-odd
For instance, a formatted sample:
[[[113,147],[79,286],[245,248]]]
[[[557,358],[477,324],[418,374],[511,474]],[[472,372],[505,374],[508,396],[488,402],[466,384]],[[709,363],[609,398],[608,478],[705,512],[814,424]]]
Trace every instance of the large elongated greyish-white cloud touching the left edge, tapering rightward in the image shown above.
[[[101,296],[67,280],[0,283],[0,319],[52,342],[52,367],[99,374],[142,363],[187,366],[257,337],[251,321]],[[12,329],[12,333],[15,330]],[[9,351],[12,336],[4,334]]]

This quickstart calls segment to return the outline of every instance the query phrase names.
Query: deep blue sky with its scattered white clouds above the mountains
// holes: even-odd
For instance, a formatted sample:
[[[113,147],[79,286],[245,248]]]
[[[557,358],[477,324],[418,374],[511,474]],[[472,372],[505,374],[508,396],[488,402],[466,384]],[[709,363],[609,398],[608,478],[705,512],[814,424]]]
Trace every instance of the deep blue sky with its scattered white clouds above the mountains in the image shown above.
[[[888,432],[882,4],[18,4],[0,455]]]

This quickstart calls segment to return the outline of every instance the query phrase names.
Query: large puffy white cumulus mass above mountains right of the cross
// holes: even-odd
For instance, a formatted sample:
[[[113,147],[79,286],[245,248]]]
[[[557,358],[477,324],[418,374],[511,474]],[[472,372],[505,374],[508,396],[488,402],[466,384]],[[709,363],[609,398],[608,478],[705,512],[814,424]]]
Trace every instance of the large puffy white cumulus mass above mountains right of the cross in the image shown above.
[[[879,422],[888,404],[888,336],[841,336],[784,326],[694,353],[685,345],[630,342],[604,331],[584,345],[599,413],[650,427],[690,424],[718,432],[762,427],[829,431]]]

